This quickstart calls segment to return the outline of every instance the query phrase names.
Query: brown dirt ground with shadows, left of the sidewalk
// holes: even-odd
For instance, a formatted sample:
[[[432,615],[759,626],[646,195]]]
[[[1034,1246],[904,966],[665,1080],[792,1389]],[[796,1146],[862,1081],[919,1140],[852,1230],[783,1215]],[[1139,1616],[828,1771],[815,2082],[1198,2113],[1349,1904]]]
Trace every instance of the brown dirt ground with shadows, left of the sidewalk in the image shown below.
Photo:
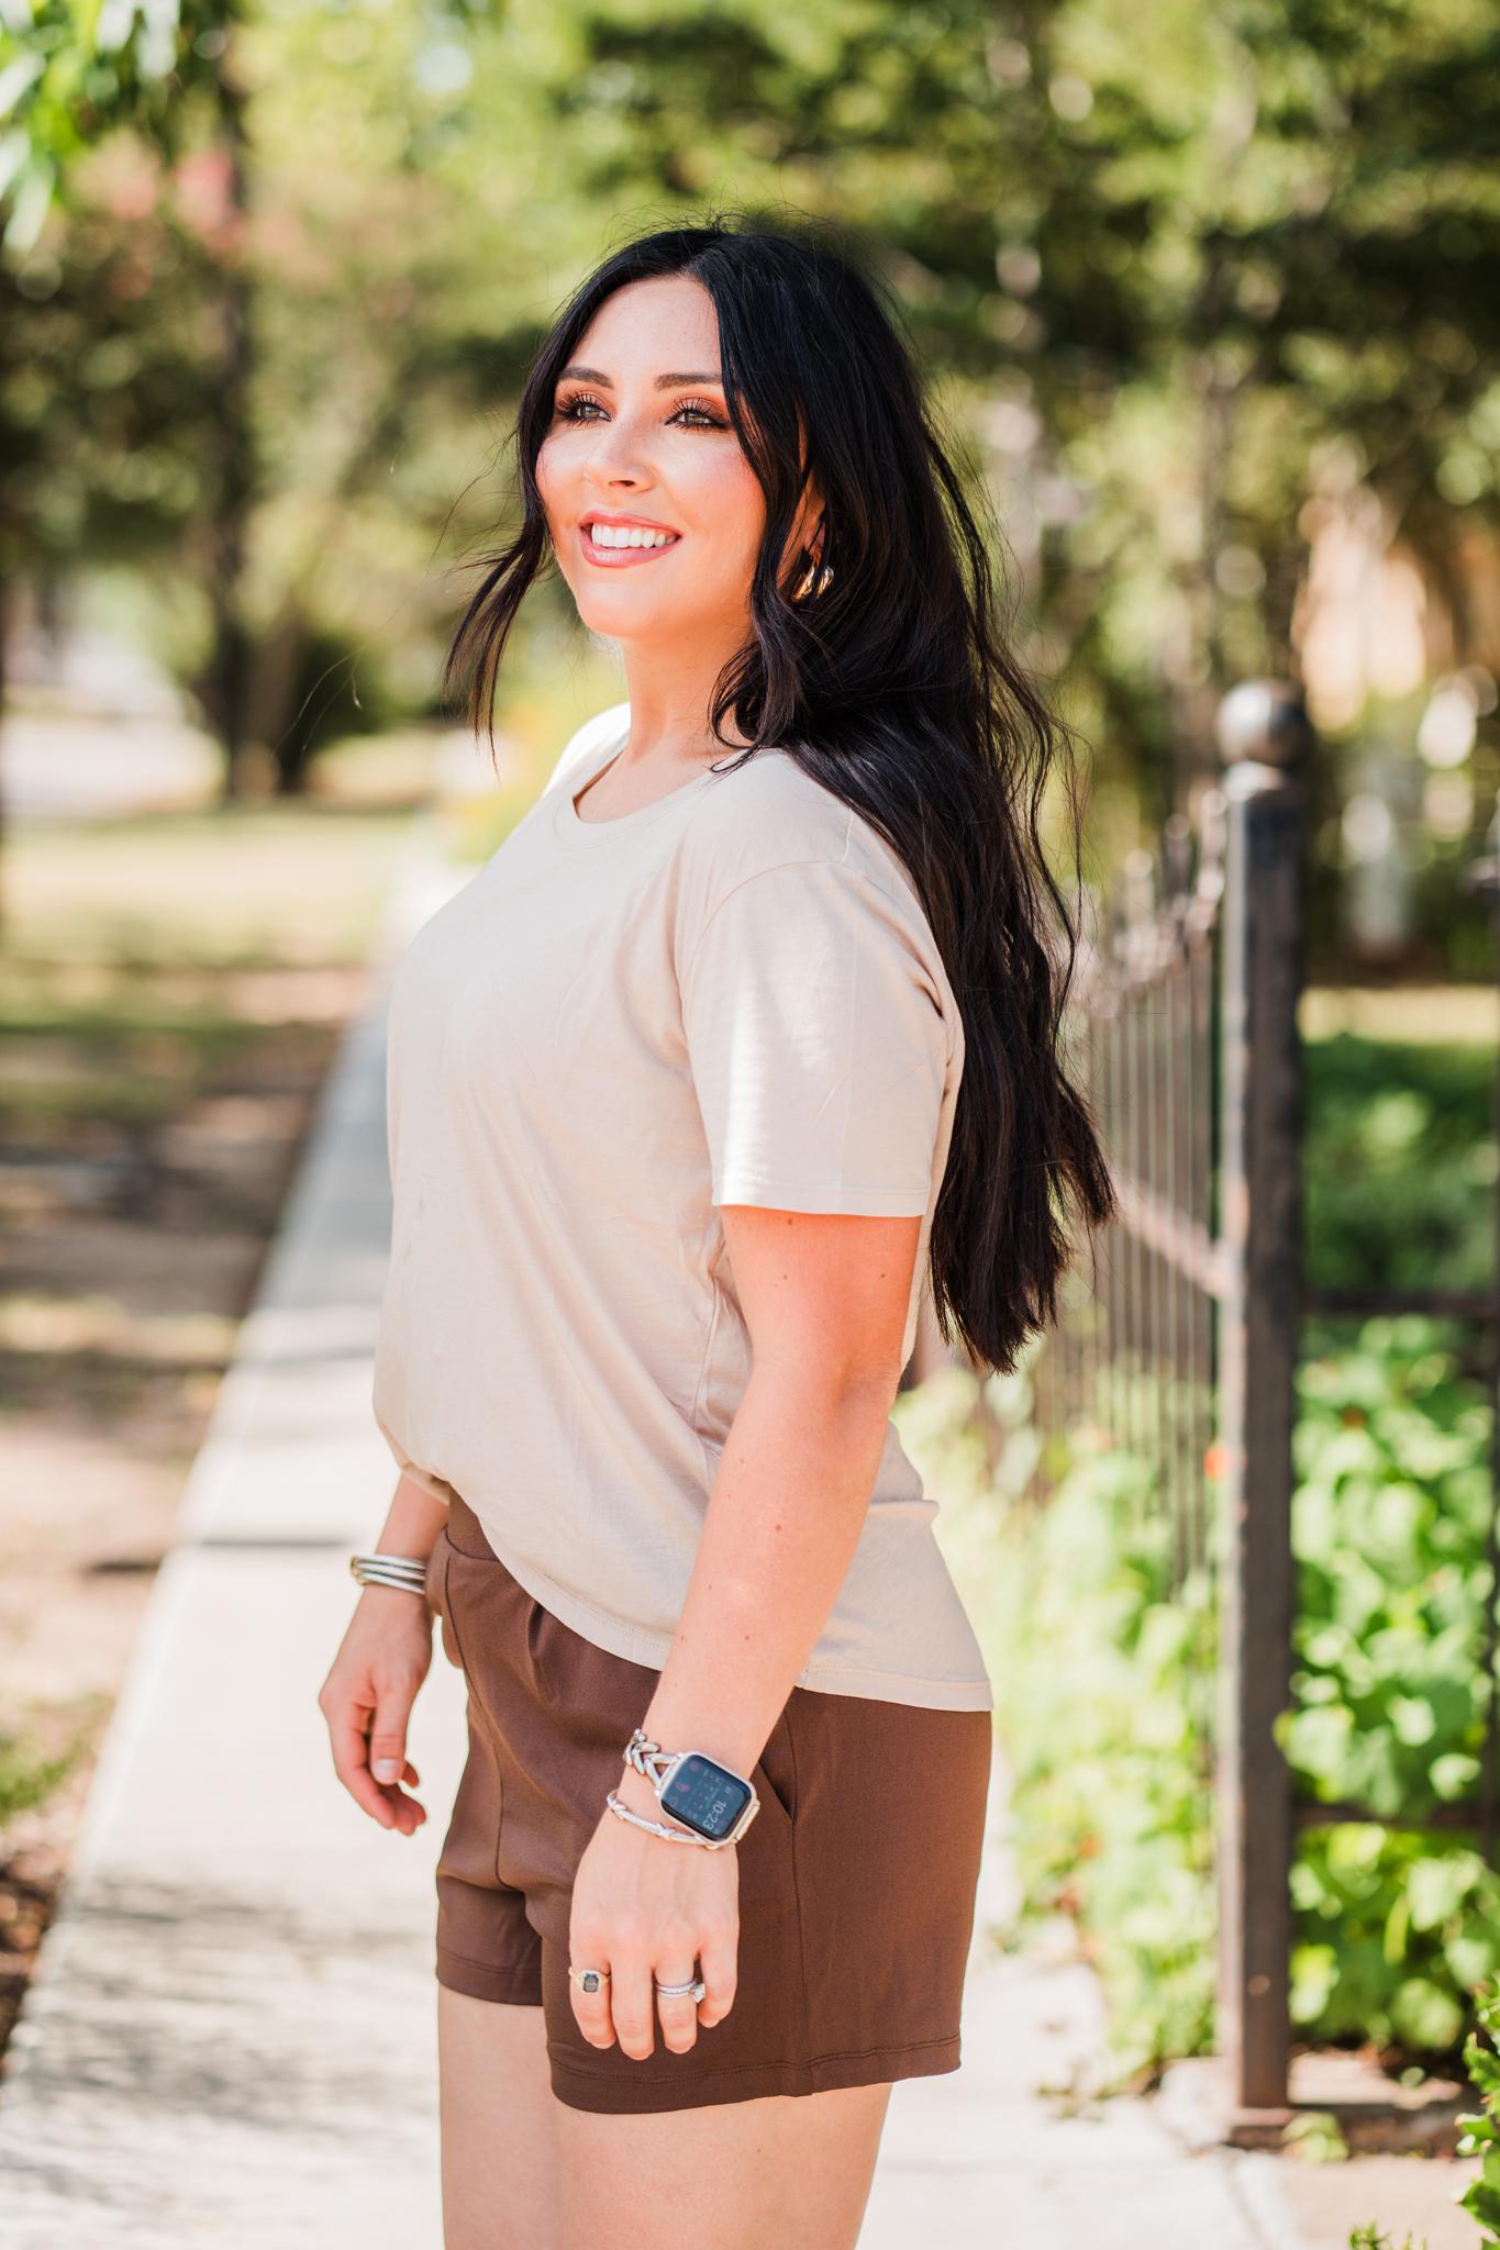
[[[218,972],[214,1006],[234,1037],[196,1055],[151,1116],[7,1109],[0,1796],[22,1809],[0,1834],[0,2054],[187,1472],[362,990],[360,968]],[[36,1051],[11,1037],[7,1078],[45,1064],[54,1082],[88,1087],[117,1062],[112,1035],[103,1058],[97,1046],[85,1033]],[[148,1060],[135,1053],[126,1069]],[[25,1807],[27,1778],[49,1757],[67,1757],[67,1775]]]

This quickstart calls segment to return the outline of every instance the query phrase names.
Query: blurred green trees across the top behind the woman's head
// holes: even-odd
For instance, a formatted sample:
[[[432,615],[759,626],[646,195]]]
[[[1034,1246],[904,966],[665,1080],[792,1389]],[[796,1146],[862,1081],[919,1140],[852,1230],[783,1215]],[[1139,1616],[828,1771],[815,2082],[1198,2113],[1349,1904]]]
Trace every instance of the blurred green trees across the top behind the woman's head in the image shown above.
[[[1025,657],[1093,745],[1095,835],[1212,774],[1228,684],[1302,677],[1322,860],[1394,824],[1403,936],[1444,952],[1424,868],[1498,778],[1484,0],[4,0],[0,25],[0,585],[11,619],[88,603],[139,637],[229,792],[265,767],[297,792],[340,736],[432,713],[519,371],[609,243],[812,212],[904,304]],[[564,601],[533,601],[508,668],[522,742],[598,655]]]

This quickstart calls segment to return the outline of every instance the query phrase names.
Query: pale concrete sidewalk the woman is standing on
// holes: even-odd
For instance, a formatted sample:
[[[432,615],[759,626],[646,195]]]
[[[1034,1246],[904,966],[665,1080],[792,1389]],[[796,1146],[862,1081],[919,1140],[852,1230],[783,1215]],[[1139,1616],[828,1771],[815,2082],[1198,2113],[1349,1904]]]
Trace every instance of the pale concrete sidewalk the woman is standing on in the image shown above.
[[[389,961],[461,880],[421,830],[189,1480],[13,2034],[7,2250],[441,2250],[432,1868],[461,1681],[434,1660],[418,1701],[416,1838],[335,1784],[315,1696],[394,1485],[369,1413]],[[1003,1822],[996,1775],[965,2066],[895,2088],[864,2250],[1298,2250],[1273,2158],[1039,2090],[1097,2052],[1100,2009],[1086,1971],[992,1946]]]

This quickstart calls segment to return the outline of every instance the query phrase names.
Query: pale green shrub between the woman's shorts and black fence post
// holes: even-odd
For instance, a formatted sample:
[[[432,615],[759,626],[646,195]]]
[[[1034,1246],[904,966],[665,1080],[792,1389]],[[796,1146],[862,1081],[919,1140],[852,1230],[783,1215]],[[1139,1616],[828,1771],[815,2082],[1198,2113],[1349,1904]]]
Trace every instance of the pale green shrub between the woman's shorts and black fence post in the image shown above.
[[[1016,1420],[1016,1382],[985,1386]],[[1046,1508],[996,1498],[974,1444],[978,1386],[949,1370],[897,1400],[942,1492],[1012,1768],[1021,1906],[1012,1935],[1077,1919],[1109,1994],[1122,2079],[1212,2043],[1208,1584],[1172,1598],[1169,1539],[1140,1462],[1079,1454]]]

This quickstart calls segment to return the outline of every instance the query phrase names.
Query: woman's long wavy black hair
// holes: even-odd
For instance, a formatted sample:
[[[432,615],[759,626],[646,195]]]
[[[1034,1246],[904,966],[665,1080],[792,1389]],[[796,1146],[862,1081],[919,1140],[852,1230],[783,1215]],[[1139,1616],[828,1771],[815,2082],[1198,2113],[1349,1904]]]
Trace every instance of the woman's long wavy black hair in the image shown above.
[[[466,684],[475,731],[493,740],[506,639],[549,556],[535,464],[558,374],[614,290],[659,274],[690,274],[713,297],[726,410],[765,490],[753,630],[715,682],[711,724],[724,740],[733,713],[747,758],[785,749],[911,873],[965,1033],[929,1244],[933,1314],[947,1343],[958,1334],[972,1361],[1010,1372],[1057,1316],[1068,1202],[1091,1226],[1115,1217],[1104,1152],[1064,1069],[1077,929],[1039,830],[1059,770],[1077,880],[1073,742],[1005,646],[990,547],[924,405],[900,313],[832,227],[666,227],[616,250],[576,290],[537,349],[515,421],[524,520],[481,558],[443,693]],[[785,549],[807,475],[823,497],[828,576],[803,578],[803,594],[785,578]]]

